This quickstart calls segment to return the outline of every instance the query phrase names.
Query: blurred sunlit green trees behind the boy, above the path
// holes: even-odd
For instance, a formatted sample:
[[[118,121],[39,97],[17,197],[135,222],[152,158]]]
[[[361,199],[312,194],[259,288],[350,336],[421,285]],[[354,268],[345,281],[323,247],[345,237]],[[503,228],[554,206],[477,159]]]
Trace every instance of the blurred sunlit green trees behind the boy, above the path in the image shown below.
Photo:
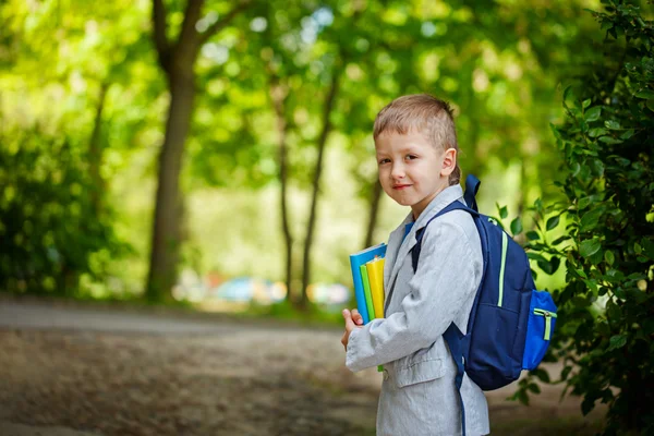
[[[391,99],[451,102],[482,210],[553,201],[549,123],[602,39],[585,8],[3,2],[0,287],[338,311],[348,255],[407,214],[376,182]]]

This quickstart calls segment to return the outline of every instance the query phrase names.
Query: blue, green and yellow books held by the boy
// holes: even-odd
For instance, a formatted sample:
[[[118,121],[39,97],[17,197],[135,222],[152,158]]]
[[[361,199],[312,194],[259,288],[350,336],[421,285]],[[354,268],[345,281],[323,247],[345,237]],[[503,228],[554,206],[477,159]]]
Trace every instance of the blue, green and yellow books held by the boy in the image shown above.
[[[384,257],[386,244],[380,243],[350,255],[356,308],[363,324],[384,317]],[[378,371],[384,371],[382,366]]]

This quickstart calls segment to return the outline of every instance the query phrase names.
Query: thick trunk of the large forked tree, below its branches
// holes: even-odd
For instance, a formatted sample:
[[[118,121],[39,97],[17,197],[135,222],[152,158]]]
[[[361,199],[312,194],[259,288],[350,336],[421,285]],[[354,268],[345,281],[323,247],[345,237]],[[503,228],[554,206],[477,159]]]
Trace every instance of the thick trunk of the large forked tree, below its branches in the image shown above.
[[[183,196],[180,190],[184,143],[193,113],[195,76],[192,65],[169,74],[170,107],[166,138],[159,153],[158,184],[146,298],[170,298],[180,257]]]

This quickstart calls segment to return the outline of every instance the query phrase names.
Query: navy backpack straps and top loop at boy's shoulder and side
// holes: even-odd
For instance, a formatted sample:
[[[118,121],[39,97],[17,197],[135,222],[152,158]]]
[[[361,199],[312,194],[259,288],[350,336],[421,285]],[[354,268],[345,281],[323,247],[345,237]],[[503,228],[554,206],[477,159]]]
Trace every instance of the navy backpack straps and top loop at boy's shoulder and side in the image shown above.
[[[476,180],[476,184],[470,183],[469,182],[470,178],[473,178],[474,180]],[[415,232],[416,243],[413,246],[413,249],[411,250],[411,263],[413,266],[413,274],[415,274],[415,271],[417,270],[417,261],[420,259],[422,239],[424,237],[425,230],[427,229],[427,226],[429,226],[429,223],[433,220],[435,220],[436,218],[440,217],[441,215],[445,215],[452,210],[465,210],[473,217],[480,216],[479,211],[476,211],[476,202],[474,201],[474,194],[476,194],[476,190],[479,189],[479,185],[480,185],[480,181],[474,175],[471,174],[468,177],[468,180],[465,183],[465,186],[467,186],[465,195],[469,194],[469,186],[470,186],[471,187],[470,192],[472,192],[472,202],[473,202],[472,205],[474,206],[474,209],[463,205],[463,203],[459,202],[458,199],[455,199],[452,203],[450,203],[445,208],[443,208],[443,210],[440,210],[438,214],[436,214],[432,219],[429,219],[422,229],[419,229]],[[465,199],[468,203],[468,198],[465,198]],[[470,205],[470,203],[469,203],[469,205]],[[457,392],[459,393],[459,404],[461,405],[461,434],[463,436],[465,436],[465,409],[463,407],[463,397],[461,397],[461,384],[463,383],[463,372],[464,372],[463,348],[461,344],[462,338],[463,338],[463,334],[461,332],[461,330],[459,330],[459,328],[457,327],[457,325],[455,323],[451,323],[449,325],[449,327],[447,328],[447,330],[445,330],[445,332],[443,334],[443,339],[445,339],[445,342],[447,343],[447,347],[450,350],[452,359],[455,360],[455,363],[457,364],[457,375],[455,376],[455,385],[457,386]]]

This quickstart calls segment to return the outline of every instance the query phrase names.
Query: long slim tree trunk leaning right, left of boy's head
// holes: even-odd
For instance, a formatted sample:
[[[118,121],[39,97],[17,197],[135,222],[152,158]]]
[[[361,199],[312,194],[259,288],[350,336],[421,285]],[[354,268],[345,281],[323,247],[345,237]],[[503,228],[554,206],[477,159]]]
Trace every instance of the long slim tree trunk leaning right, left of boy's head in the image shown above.
[[[331,109],[334,107],[334,100],[336,99],[336,94],[338,92],[338,80],[339,80],[339,69],[334,69],[334,75],[331,76],[331,86],[329,87],[329,92],[327,94],[327,98],[325,100],[324,111],[323,111],[323,131],[320,132],[320,137],[318,140],[318,159],[316,161],[316,169],[314,172],[313,179],[313,194],[311,201],[311,210],[308,215],[308,227],[306,230],[306,239],[304,241],[304,255],[302,257],[303,268],[302,268],[302,289],[301,296],[299,301],[299,307],[305,308],[307,306],[307,295],[306,288],[311,282],[311,247],[313,245],[313,237],[314,237],[314,228],[316,222],[316,209],[318,204],[318,193],[320,191],[320,174],[323,173],[323,157],[325,155],[325,145],[327,144],[327,137],[331,131],[331,121],[329,117],[331,114]]]

